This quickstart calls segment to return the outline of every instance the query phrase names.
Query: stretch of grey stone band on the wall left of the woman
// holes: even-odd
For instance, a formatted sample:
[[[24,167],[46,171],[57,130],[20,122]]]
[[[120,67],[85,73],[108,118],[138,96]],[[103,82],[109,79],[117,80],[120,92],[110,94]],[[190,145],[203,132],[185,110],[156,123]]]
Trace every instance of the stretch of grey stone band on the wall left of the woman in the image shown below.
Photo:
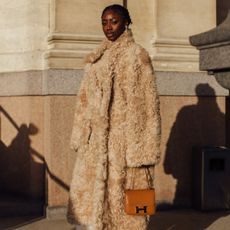
[[[75,95],[83,70],[31,70],[0,73],[0,96]]]

